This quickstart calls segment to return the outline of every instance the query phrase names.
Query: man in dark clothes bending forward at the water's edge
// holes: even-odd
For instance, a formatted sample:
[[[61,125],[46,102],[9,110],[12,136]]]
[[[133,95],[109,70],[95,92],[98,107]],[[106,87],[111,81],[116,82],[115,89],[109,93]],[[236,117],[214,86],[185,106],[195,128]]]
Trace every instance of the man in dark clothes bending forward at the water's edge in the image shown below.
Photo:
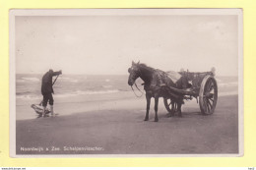
[[[62,71],[59,72],[53,72],[53,70],[49,70],[49,72],[46,72],[42,79],[41,79],[41,94],[43,96],[42,100],[42,116],[45,116],[45,108],[47,106],[47,102],[49,101],[50,104],[50,112],[51,116],[54,116],[53,112],[53,96],[52,93],[54,93],[53,88],[52,88],[52,77],[61,75]]]

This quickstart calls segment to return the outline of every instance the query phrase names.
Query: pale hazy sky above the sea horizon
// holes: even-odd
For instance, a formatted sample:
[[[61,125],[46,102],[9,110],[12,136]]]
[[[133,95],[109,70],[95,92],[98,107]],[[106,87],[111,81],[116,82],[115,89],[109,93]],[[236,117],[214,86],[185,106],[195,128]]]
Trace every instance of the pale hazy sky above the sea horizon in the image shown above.
[[[124,75],[132,61],[162,71],[238,74],[234,15],[90,15],[15,18],[17,74]]]

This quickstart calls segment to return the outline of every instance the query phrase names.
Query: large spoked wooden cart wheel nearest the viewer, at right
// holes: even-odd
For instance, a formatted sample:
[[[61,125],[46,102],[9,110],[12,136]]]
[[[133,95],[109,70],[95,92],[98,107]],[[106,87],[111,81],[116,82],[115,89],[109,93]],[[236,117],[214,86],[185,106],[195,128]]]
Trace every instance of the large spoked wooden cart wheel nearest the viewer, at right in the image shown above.
[[[199,105],[202,114],[213,114],[218,99],[218,86],[214,77],[208,75],[202,81],[199,91]]]

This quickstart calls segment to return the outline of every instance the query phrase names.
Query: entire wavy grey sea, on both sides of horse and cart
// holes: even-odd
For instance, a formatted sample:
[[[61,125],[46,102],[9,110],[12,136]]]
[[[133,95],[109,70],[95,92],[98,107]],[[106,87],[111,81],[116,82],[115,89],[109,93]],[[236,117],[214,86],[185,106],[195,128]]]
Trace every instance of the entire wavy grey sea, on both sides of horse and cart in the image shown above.
[[[16,75],[16,99],[40,100],[41,78],[39,74]],[[56,77],[53,77],[53,81]],[[219,94],[237,94],[237,77],[216,77]],[[142,80],[137,80],[137,85],[143,90]],[[103,94],[117,94],[131,91],[128,85],[128,75],[60,75],[53,85],[54,98],[69,98],[72,96],[100,96]],[[139,91],[137,91],[139,92]],[[134,96],[136,97],[136,96]],[[120,98],[123,96],[120,95]],[[19,104],[19,103],[17,103]]]

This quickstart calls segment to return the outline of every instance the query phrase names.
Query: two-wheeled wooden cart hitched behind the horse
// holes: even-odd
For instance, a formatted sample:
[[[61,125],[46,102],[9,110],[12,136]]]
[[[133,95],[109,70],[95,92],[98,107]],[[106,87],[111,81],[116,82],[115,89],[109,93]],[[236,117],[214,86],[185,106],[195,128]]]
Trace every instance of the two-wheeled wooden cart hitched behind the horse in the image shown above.
[[[169,94],[175,93],[186,100],[196,98],[199,101],[200,110],[203,115],[213,114],[218,100],[218,85],[215,79],[215,69],[213,68],[211,72],[196,73],[187,71],[179,72],[179,74],[187,78],[191,83],[191,87],[178,89],[167,86],[167,96],[163,97],[166,110],[171,113],[171,97],[168,97],[169,92]],[[176,110],[175,103],[173,109]]]

